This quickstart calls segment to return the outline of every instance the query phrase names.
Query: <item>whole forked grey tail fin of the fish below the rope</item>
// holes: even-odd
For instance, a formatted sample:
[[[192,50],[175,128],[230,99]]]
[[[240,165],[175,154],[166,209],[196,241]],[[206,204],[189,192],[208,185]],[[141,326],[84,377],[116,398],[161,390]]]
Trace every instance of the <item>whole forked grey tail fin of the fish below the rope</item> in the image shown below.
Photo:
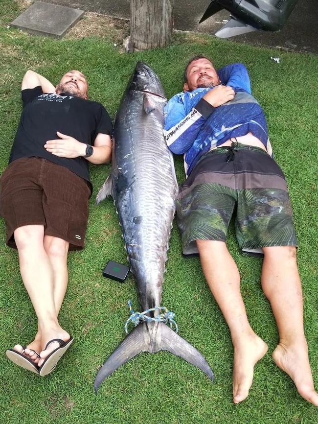
[[[94,380],[95,393],[97,393],[99,385],[106,377],[110,376],[120,365],[129,361],[136,354],[140,352],[156,353],[159,351],[169,351],[182,357],[202,370],[213,381],[213,372],[200,352],[166,324],[148,322],[141,323],[132,330],[99,369]]]

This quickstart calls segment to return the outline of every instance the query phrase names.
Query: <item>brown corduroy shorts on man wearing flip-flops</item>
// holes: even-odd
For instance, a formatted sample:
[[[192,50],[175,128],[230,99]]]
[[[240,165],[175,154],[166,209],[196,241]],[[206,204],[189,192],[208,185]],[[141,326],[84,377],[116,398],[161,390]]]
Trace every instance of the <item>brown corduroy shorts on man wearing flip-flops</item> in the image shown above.
[[[43,158],[17,159],[0,178],[0,214],[6,244],[16,248],[14,231],[44,225],[45,235],[63,238],[69,250],[84,246],[91,189],[83,178]]]

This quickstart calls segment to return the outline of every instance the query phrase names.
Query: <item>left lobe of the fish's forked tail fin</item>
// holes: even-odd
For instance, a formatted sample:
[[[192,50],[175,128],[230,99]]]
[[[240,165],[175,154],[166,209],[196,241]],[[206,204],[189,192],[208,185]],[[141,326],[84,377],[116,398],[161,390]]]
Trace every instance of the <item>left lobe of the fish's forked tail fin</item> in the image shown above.
[[[97,376],[94,380],[94,390],[97,393],[99,385],[105,380],[106,377],[110,376],[120,365],[129,361],[129,359],[136,356],[138,353],[143,352],[144,326],[138,325],[132,330],[128,336],[120,343],[116,350],[107,358],[104,365],[99,369]]]

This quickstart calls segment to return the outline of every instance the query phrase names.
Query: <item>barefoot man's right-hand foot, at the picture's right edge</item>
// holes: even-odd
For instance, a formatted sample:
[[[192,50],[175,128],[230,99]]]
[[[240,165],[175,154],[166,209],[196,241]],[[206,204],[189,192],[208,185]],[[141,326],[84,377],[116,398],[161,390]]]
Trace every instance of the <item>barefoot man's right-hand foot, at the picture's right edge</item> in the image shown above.
[[[275,364],[292,378],[299,395],[318,406],[306,340],[289,346],[279,343],[272,356]]]

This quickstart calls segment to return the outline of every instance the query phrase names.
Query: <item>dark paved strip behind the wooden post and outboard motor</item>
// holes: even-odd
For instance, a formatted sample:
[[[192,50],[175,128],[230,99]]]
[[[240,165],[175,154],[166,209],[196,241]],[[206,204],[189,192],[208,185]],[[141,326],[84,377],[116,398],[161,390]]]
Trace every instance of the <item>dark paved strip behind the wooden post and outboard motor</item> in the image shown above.
[[[46,1],[118,18],[130,17],[130,0]],[[209,0],[174,0],[175,29],[214,34],[223,26],[222,21],[229,19],[229,13],[222,10],[204,23],[198,24],[209,4]],[[298,0],[282,31],[275,33],[257,31],[233,37],[231,40],[318,54],[318,1]]]

